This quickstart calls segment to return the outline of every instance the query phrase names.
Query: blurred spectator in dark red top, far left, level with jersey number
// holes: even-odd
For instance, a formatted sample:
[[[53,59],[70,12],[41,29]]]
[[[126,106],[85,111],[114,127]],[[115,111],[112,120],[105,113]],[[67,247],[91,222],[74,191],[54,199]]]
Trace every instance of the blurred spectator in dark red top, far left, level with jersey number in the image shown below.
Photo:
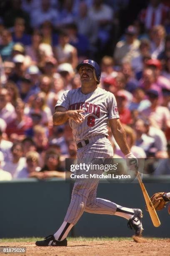
[[[24,102],[18,98],[15,105],[16,118],[7,125],[5,131],[8,138],[15,133],[18,135],[18,141],[21,141],[21,138],[23,139],[27,130],[32,127],[32,120],[27,115],[24,115],[24,108]]]

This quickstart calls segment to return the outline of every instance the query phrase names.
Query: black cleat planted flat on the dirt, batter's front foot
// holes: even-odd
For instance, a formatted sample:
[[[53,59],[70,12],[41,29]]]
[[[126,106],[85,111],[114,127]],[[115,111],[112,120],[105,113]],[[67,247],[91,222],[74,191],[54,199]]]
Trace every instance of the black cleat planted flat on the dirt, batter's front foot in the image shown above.
[[[57,241],[53,235],[50,235],[42,241],[36,241],[35,244],[36,246],[67,246],[67,239]]]

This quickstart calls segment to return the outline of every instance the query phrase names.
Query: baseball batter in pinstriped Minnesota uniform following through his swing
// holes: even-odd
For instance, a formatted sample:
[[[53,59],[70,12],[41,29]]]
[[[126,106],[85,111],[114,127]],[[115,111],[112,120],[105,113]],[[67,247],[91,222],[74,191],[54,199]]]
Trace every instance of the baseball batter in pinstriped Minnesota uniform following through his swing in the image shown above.
[[[77,161],[90,162],[93,159],[113,157],[113,148],[107,139],[109,123],[127,165],[136,166],[138,161],[128,147],[115,96],[97,87],[101,75],[99,65],[93,60],[84,60],[77,66],[77,71],[82,86],[65,91],[57,101],[53,115],[54,125],[62,125],[69,120],[77,143]],[[99,174],[102,172],[97,171]],[[84,211],[126,218],[128,227],[135,230],[135,236],[141,235],[142,210],[122,207],[109,200],[96,198],[98,182],[98,179],[75,182],[64,222],[54,235],[47,236],[43,241],[36,241],[37,246],[67,246],[67,235]]]

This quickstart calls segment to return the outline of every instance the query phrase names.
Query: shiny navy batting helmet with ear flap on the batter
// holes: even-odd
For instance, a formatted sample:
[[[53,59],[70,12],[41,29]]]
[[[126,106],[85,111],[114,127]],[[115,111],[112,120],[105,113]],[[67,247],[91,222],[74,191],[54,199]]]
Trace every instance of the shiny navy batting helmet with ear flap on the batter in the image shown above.
[[[97,84],[99,84],[100,76],[101,76],[101,69],[100,69],[99,65],[97,64],[97,62],[93,61],[92,59],[85,59],[77,66],[77,71],[79,72],[80,67],[82,67],[84,65],[87,65],[87,66],[89,65],[90,67],[93,68],[93,74],[94,74],[95,80],[96,80]]]

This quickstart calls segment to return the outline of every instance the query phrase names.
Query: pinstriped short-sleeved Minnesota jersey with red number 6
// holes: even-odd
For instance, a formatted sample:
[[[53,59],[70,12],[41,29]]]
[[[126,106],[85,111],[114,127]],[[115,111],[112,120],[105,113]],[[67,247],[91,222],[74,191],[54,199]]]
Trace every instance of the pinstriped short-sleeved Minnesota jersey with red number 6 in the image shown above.
[[[85,111],[82,123],[69,119],[74,140],[77,142],[93,136],[108,136],[108,120],[119,118],[115,96],[99,87],[93,92],[83,94],[81,88],[67,90],[57,100],[57,106],[67,110]]]

